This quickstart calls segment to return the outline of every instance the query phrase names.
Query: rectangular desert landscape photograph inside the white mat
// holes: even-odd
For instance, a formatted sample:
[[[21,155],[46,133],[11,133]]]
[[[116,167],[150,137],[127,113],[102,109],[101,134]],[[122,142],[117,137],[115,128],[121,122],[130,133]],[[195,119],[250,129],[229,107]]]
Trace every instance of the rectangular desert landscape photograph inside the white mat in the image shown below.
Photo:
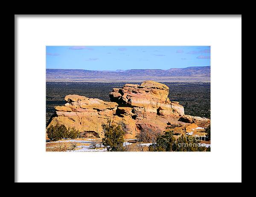
[[[211,46],[46,46],[46,151],[211,151]]]

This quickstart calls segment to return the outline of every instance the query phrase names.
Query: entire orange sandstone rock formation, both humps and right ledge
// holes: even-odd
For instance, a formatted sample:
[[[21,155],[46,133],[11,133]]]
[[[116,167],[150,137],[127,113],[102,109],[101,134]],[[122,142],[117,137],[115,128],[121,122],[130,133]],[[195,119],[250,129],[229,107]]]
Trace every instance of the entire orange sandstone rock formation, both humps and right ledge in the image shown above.
[[[81,133],[102,138],[104,136],[102,124],[111,119],[114,123],[124,122],[128,125],[129,132],[125,135],[127,139],[135,138],[145,128],[163,131],[167,123],[177,125],[174,128],[177,136],[191,133],[192,130],[197,131],[195,133],[199,136],[204,136],[203,130],[201,132],[195,128],[199,127],[199,123],[209,125],[210,120],[184,115],[183,106],[178,102],[170,101],[168,95],[169,87],[155,81],[144,81],[140,85],[125,84],[122,88],[113,88],[109,94],[111,102],[67,95],[65,97],[67,103],[55,107],[55,114],[47,127],[58,122],[66,127],[75,127]]]

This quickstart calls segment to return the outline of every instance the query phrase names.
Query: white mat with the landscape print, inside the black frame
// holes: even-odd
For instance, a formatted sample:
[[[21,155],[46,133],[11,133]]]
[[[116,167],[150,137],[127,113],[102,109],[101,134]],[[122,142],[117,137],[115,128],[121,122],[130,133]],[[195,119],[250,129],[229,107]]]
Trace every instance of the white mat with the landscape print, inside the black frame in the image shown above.
[[[16,14],[15,183],[241,183],[241,68],[241,14]]]

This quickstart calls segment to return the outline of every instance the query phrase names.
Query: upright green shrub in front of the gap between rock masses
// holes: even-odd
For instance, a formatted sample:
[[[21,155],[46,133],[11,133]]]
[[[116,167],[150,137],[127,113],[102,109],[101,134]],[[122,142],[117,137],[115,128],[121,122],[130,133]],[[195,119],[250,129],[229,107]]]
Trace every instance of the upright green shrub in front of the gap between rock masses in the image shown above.
[[[121,125],[113,125],[110,120],[107,124],[102,124],[104,138],[102,144],[108,151],[124,151],[123,143],[125,131]]]

